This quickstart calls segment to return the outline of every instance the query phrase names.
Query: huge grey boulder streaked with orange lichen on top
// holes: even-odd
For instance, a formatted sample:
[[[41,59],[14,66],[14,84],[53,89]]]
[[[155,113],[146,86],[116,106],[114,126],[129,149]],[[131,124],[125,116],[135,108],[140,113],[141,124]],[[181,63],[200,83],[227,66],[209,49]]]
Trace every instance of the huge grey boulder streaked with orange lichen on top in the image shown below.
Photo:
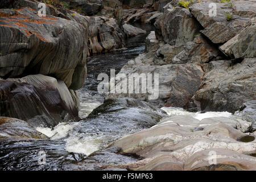
[[[70,89],[81,88],[86,77],[88,30],[49,14],[40,17],[36,9],[22,7],[0,17],[0,76],[39,73],[63,80]]]

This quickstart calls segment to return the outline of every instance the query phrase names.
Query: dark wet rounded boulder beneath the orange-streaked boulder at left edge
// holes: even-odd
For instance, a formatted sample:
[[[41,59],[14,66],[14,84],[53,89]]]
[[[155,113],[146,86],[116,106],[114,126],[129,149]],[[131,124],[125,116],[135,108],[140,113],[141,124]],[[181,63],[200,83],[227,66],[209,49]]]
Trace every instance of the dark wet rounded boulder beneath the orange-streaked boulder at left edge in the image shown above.
[[[52,127],[79,118],[79,106],[72,95],[63,81],[49,76],[0,80],[0,115],[22,119],[32,126]]]

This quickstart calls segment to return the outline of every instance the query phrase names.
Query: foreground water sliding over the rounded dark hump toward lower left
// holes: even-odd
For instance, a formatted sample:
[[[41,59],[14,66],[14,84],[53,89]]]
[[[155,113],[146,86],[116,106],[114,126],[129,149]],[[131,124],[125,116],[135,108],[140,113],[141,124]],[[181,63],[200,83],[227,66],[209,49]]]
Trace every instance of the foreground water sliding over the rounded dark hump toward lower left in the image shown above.
[[[69,130],[63,137],[61,134],[64,130],[60,130],[60,133],[57,133],[59,130],[55,130],[56,134],[49,137],[51,140],[15,140],[13,138],[1,140],[0,168],[4,170],[102,170],[108,168],[110,164],[136,162],[138,159],[133,156],[118,154],[118,148],[104,149],[104,147],[123,135],[155,125],[164,115],[166,113],[163,110],[147,102],[131,98],[109,101],[80,122],[58,125],[60,129],[65,129],[64,126],[73,127],[73,130]],[[1,126],[0,133],[2,133]],[[40,151],[46,152],[45,165],[38,164]],[[19,163],[19,160],[26,162]],[[121,170],[121,168],[112,170],[114,169]]]

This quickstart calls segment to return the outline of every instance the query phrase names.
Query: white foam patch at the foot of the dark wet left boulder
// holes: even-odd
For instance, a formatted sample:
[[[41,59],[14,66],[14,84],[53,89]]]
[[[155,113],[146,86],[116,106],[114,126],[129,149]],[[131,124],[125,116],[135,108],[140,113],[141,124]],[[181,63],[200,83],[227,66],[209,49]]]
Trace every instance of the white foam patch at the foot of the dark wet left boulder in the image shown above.
[[[77,125],[79,125],[79,122],[64,122],[56,125],[53,130],[48,127],[37,127],[36,130],[51,138],[51,140],[56,140],[67,137],[69,131],[73,130]]]

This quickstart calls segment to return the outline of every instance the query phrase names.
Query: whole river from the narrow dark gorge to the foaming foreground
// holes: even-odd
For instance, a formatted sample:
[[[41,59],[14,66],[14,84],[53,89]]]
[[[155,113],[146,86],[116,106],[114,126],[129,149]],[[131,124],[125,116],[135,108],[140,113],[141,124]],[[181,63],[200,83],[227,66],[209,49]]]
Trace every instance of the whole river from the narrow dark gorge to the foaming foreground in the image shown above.
[[[88,57],[88,74],[84,86],[79,90],[81,100],[80,118],[86,118],[94,108],[104,102],[104,96],[97,92],[97,86],[100,82],[97,80],[97,76],[100,73],[109,75],[110,69],[115,69],[118,73],[127,61],[143,53],[145,39],[152,30],[152,26],[146,24],[137,24],[137,26],[147,30],[147,34],[129,38],[126,42],[127,49]],[[131,110],[131,112],[133,111]],[[126,111],[125,114],[129,117],[131,113]],[[108,118],[113,117],[108,116]],[[121,138],[123,135],[134,133],[145,127],[135,127],[133,123],[128,121],[118,122],[117,124],[117,122],[108,121],[108,118],[103,118],[104,125],[98,119],[90,119],[86,122],[81,120],[80,122],[60,123],[54,129],[37,128],[38,131],[50,137],[51,140],[2,140],[0,142],[0,169],[77,170],[80,169],[80,165],[75,164],[77,161],[105,147],[111,140]],[[115,120],[118,121],[117,118]],[[40,151],[46,154],[46,163],[42,165],[38,164]],[[123,158],[126,160],[125,156]],[[135,159],[127,157],[127,162],[133,160]],[[82,167],[82,169],[94,168],[96,167]]]

